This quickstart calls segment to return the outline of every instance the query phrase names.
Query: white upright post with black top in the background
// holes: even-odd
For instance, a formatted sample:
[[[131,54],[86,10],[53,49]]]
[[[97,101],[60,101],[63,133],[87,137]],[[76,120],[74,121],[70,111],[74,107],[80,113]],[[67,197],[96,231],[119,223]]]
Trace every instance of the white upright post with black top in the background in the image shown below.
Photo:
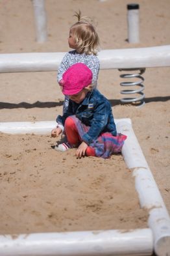
[[[140,5],[131,3],[127,5],[127,21],[128,21],[128,42],[139,43],[139,8]]]

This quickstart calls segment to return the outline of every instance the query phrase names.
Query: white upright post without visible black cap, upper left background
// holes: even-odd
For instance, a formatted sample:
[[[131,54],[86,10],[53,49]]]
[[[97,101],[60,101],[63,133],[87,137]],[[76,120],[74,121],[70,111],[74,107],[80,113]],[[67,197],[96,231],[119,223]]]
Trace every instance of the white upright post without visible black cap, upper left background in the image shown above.
[[[47,41],[47,19],[44,0],[33,0],[34,19],[36,23],[36,41]]]

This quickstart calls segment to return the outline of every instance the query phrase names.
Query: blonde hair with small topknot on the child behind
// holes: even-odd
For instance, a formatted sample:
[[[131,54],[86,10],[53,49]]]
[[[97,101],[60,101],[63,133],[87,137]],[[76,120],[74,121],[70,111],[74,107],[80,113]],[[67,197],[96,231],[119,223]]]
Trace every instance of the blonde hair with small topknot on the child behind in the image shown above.
[[[81,12],[75,12],[78,21],[73,24],[70,28],[74,35],[75,43],[77,45],[77,51],[79,53],[93,54],[97,55],[99,50],[99,36],[95,31],[90,18],[81,17]]]

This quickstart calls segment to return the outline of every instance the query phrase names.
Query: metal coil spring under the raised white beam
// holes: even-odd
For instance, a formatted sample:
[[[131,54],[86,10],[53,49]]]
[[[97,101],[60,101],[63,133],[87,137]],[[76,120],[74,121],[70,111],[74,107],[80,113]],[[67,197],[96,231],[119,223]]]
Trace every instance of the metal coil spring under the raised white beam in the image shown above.
[[[129,69],[119,69],[119,71],[134,71],[134,70],[139,70],[139,73],[136,74],[121,74],[121,78],[139,78],[140,81],[136,82],[122,82],[120,83],[121,86],[139,86],[140,89],[128,89],[128,90],[122,90],[121,94],[140,94],[141,96],[138,98],[122,98],[121,102],[123,103],[129,103],[129,102],[141,102],[144,103],[143,98],[145,98],[145,94],[143,93],[143,90],[145,89],[145,86],[142,84],[144,81],[144,78],[141,76],[145,72],[145,68],[129,68]]]

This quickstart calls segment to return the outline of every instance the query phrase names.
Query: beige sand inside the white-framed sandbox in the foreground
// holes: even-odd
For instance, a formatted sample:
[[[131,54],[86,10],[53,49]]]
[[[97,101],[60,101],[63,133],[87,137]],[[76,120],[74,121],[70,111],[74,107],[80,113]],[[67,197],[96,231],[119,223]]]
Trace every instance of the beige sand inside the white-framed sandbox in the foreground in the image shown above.
[[[2,135],[1,142],[1,233],[146,226],[121,155],[79,160],[75,149],[56,152],[49,135]]]

